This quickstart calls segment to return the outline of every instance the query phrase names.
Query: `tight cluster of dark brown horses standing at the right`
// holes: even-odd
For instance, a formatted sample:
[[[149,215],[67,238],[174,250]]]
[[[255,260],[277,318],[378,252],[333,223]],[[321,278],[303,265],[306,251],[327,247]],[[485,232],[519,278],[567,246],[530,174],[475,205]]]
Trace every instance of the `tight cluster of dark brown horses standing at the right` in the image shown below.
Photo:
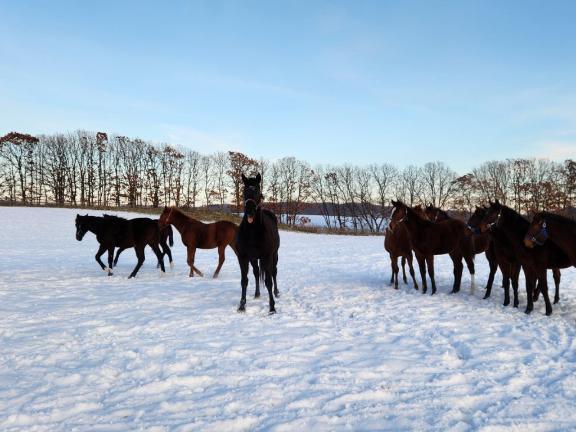
[[[392,279],[398,288],[398,258],[402,259],[403,279],[407,283],[405,262],[408,262],[414,288],[418,283],[412,265],[416,256],[422,281],[427,291],[426,272],[436,293],[434,256],[448,254],[454,265],[452,293],[460,290],[465,260],[474,288],[474,256],[485,253],[490,273],[484,298],[490,297],[494,275],[502,273],[504,306],[510,304],[510,285],[514,307],[518,307],[518,278],[524,271],[526,280],[526,313],[534,309],[534,301],[542,293],[546,315],[552,314],[548,296],[547,270],[552,270],[556,291],[554,303],[560,300],[560,269],[576,266],[576,221],[550,212],[540,212],[532,221],[498,200],[488,206],[476,207],[465,223],[445,211],[433,207],[410,207],[392,201],[392,214],[385,233],[384,247],[390,255]]]

